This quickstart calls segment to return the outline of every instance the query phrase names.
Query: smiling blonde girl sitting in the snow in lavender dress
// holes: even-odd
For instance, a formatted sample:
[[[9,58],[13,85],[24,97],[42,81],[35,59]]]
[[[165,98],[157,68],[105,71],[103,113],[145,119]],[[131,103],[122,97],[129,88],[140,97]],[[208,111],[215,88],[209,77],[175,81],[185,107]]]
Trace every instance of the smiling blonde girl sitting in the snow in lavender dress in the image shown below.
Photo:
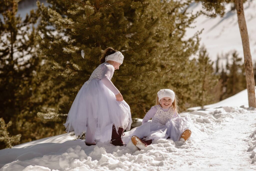
[[[152,122],[148,122],[152,118]],[[190,117],[178,115],[176,95],[173,90],[162,89],[157,92],[156,105],[144,116],[142,125],[129,131],[135,146],[144,149],[153,139],[170,138],[173,141],[186,141],[190,135],[202,133],[195,128]]]

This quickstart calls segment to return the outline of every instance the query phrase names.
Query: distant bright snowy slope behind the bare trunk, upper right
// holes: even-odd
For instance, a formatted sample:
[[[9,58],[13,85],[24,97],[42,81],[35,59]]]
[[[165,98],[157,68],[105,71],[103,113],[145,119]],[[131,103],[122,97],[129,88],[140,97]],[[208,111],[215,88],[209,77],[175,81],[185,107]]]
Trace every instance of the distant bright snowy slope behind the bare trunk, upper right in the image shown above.
[[[193,26],[193,29],[187,29],[186,36],[190,37],[196,31],[203,30],[200,35],[200,44],[204,44],[210,58],[215,61],[217,54],[225,54],[231,50],[237,50],[240,57],[243,57],[242,40],[239,26],[237,23],[236,10],[230,11],[231,5],[226,5],[226,15],[216,18],[209,18],[205,15],[199,16]],[[202,9],[201,4],[193,3],[188,12],[196,12]],[[249,34],[250,49],[252,59],[256,61],[256,1],[248,0],[244,3],[244,14],[247,22]],[[223,61],[225,62],[225,61]],[[221,61],[220,61],[221,63]]]

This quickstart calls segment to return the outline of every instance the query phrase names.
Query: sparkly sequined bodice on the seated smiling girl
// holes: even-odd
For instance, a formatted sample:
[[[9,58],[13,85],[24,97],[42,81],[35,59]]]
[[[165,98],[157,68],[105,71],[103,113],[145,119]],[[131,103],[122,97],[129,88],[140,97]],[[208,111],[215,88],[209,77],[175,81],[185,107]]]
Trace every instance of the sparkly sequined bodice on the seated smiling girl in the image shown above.
[[[173,118],[174,110],[171,107],[169,107],[168,111],[163,111],[159,105],[156,106],[156,108],[157,110],[154,116],[152,117],[152,122],[158,122],[162,125],[165,125],[169,119]]]

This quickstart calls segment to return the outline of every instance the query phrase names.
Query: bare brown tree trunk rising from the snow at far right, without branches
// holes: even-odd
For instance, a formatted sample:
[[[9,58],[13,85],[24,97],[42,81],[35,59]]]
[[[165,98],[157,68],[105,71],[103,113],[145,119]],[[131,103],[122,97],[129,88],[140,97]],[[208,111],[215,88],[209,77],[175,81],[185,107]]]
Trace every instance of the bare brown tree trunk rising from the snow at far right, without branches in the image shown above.
[[[235,0],[235,6],[237,10],[238,25],[243,44],[243,55],[244,55],[244,68],[246,73],[246,86],[248,91],[249,107],[256,108],[255,101],[255,83],[252,67],[252,56],[250,51],[249,37],[246,26],[246,21],[243,11],[243,0]]]

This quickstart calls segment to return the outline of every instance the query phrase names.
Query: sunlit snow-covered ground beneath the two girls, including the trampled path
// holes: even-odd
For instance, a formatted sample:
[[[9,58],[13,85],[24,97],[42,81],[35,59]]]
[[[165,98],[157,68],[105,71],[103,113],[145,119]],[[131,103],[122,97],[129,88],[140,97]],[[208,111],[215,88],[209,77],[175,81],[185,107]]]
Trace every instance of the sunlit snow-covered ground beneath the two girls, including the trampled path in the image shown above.
[[[256,110],[239,107],[241,93],[229,98],[235,105],[180,114],[208,136],[199,141],[160,139],[139,151],[131,142],[86,146],[67,133],[0,150],[0,170],[255,170]]]

